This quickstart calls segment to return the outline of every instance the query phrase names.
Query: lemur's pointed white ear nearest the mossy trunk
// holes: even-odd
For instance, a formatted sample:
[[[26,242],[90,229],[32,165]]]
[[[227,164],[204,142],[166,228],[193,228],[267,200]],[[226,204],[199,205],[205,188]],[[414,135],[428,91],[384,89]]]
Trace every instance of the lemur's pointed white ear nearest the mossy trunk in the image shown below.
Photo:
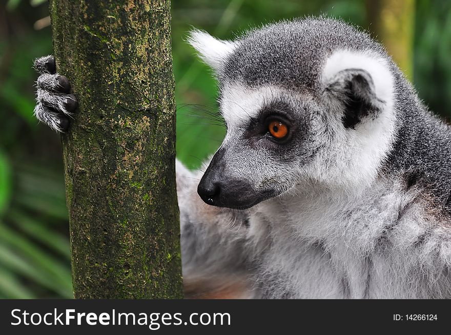
[[[194,29],[189,33],[188,43],[199,52],[200,58],[215,71],[220,71],[226,57],[232,53],[236,43],[220,40],[209,33]]]

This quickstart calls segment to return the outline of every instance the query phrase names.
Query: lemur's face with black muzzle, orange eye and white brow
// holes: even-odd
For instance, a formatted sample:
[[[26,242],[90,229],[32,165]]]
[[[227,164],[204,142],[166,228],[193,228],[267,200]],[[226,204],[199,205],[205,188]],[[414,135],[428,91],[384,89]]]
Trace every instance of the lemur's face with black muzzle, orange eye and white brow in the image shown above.
[[[321,145],[312,97],[235,82],[222,88],[220,108],[227,135],[198,186],[209,204],[249,208],[280,195]]]

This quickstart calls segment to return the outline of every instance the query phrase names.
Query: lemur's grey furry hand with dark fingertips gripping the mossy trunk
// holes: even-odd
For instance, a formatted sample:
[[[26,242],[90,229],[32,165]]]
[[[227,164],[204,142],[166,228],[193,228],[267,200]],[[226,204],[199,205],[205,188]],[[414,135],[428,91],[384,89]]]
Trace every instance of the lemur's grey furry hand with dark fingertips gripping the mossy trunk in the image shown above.
[[[34,116],[57,132],[69,129],[69,117],[78,106],[77,99],[70,94],[70,82],[56,73],[55,58],[44,56],[34,61],[34,69],[40,73],[37,78]]]

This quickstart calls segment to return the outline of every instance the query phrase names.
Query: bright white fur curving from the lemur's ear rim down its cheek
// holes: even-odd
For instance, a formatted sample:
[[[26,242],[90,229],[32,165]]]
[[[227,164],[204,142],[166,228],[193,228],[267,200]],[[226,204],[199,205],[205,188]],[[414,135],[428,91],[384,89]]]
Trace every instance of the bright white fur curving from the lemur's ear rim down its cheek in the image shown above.
[[[341,101],[331,101],[336,117],[330,122],[337,130],[333,148],[320,152],[318,159],[306,167],[305,173],[330,185],[359,188],[375,180],[395,137],[393,76],[381,57],[338,51],[324,66],[324,87],[334,82],[340,71],[347,69],[364,70],[371,75],[375,94],[381,100],[381,113],[374,120],[361,122],[356,129],[345,129],[341,125]]]

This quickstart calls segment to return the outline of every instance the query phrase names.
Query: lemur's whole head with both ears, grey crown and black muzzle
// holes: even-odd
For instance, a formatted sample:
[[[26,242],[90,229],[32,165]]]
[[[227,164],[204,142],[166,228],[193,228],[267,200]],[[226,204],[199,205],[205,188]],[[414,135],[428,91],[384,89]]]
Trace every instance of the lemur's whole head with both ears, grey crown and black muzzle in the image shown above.
[[[249,208],[312,183],[375,180],[395,136],[396,66],[367,34],[306,18],[189,41],[216,74],[227,124],[198,186],[206,203]]]

